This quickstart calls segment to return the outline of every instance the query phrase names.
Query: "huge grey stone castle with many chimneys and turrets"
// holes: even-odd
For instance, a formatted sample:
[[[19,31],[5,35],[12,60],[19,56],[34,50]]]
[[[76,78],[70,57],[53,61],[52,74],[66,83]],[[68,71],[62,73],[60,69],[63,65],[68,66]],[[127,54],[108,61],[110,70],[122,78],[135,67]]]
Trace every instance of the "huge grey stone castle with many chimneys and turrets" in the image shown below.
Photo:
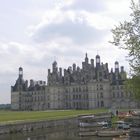
[[[126,90],[126,72],[115,62],[115,69],[101,63],[100,56],[89,62],[86,54],[82,68],[73,64],[68,69],[58,68],[57,62],[48,69],[45,81],[23,79],[23,69],[11,87],[13,110],[135,108],[133,94]]]

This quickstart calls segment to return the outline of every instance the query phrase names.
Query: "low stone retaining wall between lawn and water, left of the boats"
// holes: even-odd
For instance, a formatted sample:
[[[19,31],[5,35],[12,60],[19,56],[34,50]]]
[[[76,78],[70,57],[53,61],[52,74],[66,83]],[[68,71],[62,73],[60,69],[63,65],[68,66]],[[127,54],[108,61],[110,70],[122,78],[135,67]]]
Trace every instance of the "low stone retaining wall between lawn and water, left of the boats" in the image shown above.
[[[68,118],[61,120],[44,120],[34,122],[21,122],[15,124],[0,124],[0,134],[17,133],[24,131],[33,131],[43,128],[75,127],[78,126],[77,118]]]

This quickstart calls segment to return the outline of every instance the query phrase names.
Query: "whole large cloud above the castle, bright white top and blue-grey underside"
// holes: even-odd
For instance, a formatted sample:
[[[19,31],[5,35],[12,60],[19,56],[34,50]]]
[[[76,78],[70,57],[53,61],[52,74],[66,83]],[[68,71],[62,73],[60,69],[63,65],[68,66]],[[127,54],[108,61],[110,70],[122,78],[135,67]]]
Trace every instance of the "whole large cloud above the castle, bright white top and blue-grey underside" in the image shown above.
[[[49,10],[42,21],[28,27],[28,34],[36,43],[57,41],[61,38],[78,45],[100,42],[107,34],[107,24],[103,24],[101,19],[101,16],[88,12],[64,13],[60,9]],[[109,18],[105,20],[107,23],[110,21]]]

